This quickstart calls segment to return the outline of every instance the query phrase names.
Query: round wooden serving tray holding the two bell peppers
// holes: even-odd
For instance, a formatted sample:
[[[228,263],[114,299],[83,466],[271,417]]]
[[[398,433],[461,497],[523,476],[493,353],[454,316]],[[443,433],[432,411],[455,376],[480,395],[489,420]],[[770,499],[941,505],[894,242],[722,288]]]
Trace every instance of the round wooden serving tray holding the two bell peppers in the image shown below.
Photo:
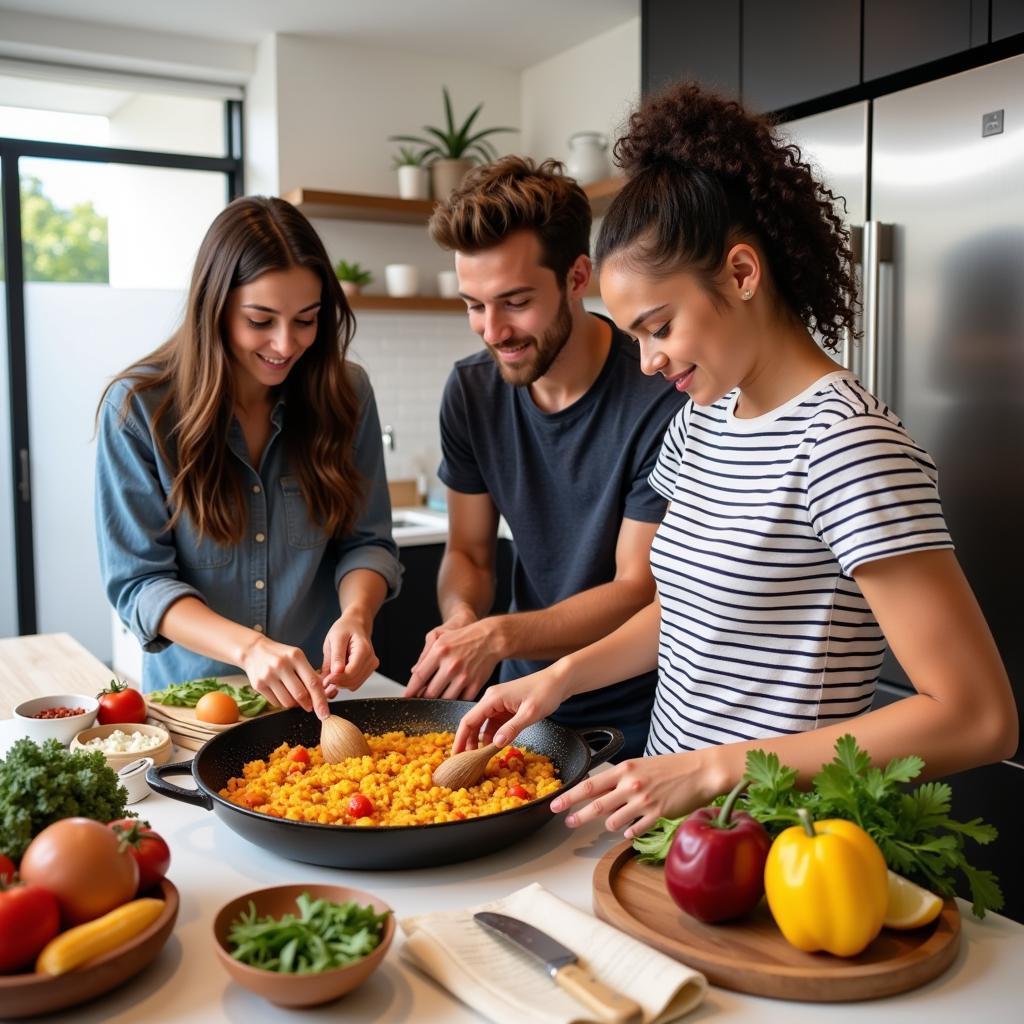
[[[848,958],[791,946],[764,900],[741,921],[705,925],[676,906],[664,868],[640,863],[629,842],[609,850],[594,870],[594,912],[702,972],[713,985],[808,1002],[874,999],[916,988],[949,967],[961,940],[952,900],[931,925],[909,932],[884,928],[859,956]]]

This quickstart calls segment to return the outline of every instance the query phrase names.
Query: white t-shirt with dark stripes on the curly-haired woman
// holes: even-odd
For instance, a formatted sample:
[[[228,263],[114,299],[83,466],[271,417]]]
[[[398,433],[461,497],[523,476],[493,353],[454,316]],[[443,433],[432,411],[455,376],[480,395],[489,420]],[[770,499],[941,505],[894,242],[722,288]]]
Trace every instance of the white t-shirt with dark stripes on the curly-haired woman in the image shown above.
[[[648,755],[866,711],[886,642],[853,570],[952,547],[934,463],[849,372],[756,419],[737,394],[688,403],[650,475],[672,504]]]

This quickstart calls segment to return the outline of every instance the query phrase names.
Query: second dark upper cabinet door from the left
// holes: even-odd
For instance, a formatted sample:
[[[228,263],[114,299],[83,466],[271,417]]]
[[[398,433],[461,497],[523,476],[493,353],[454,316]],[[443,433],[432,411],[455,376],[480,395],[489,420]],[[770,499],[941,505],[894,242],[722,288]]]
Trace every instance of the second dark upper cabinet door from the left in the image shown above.
[[[742,37],[743,102],[754,110],[860,83],[860,0],[745,0]]]

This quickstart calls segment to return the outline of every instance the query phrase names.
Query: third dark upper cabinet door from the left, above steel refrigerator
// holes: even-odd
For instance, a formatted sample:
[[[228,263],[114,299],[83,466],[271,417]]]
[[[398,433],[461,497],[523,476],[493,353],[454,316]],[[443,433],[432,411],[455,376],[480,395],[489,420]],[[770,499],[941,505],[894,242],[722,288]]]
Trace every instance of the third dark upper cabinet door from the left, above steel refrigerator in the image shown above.
[[[972,24],[971,0],[864,0],[864,81],[970,49]]]

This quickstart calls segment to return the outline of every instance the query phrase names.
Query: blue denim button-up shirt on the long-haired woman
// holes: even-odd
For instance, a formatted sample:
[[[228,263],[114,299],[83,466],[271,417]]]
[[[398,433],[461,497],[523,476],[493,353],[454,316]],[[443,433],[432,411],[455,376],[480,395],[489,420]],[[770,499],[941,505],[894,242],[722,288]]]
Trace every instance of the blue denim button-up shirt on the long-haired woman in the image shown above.
[[[96,449],[99,565],[108,598],[142,645],[143,690],[239,672],[159,634],[164,613],[181,597],[198,597],[225,618],[301,647],[318,669],[324,638],[340,614],[342,577],[373,569],[387,582],[389,597],[397,593],[401,565],[391,537],[377,403],[365,371],[349,368],[362,410],[354,463],[365,481],[365,502],[351,534],[341,540],[329,539],[310,519],[282,437],[284,398],[271,414],[258,469],[249,460],[241,425],[231,420],[227,444],[242,472],[248,521],[241,544],[221,547],[200,540],[187,514],[166,527],[174,473],[160,456],[152,427],[163,392],[134,395],[124,420],[129,384],[119,381],[106,394]]]

